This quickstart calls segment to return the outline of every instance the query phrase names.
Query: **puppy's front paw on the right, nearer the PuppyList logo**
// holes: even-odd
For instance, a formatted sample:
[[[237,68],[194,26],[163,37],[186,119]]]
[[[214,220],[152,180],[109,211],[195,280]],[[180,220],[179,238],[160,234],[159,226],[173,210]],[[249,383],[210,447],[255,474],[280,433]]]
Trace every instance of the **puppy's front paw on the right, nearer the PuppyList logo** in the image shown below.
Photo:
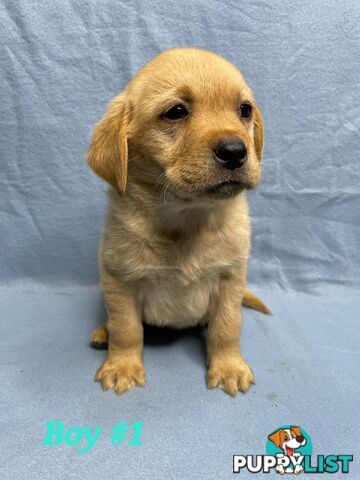
[[[240,356],[223,357],[210,364],[208,388],[221,388],[234,397],[238,390],[247,392],[252,383],[255,383],[254,374]]]

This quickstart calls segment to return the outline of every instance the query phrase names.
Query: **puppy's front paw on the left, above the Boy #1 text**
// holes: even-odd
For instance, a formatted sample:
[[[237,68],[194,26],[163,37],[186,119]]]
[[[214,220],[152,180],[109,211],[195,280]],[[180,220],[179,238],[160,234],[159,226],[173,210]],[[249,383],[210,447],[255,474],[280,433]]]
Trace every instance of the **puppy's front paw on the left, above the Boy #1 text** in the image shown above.
[[[118,395],[145,385],[145,370],[138,358],[106,359],[96,373],[104,390],[113,388]]]

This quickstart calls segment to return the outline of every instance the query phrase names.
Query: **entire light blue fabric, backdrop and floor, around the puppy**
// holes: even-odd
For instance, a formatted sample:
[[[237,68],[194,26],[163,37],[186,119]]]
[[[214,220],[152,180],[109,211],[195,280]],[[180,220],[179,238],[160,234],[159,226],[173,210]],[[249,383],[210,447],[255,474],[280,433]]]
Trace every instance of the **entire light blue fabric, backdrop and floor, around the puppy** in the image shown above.
[[[0,18],[4,478],[233,478],[232,454],[263,453],[291,422],[316,453],[358,452],[359,2],[3,0]],[[249,283],[274,317],[244,313],[258,385],[235,400],[206,391],[197,333],[165,345],[149,334],[143,390],[116,398],[92,383],[106,187],[85,162],[90,132],[174,46],[234,62],[265,121]],[[45,448],[52,419],[142,419],[144,445]],[[347,478],[359,476],[354,466]]]

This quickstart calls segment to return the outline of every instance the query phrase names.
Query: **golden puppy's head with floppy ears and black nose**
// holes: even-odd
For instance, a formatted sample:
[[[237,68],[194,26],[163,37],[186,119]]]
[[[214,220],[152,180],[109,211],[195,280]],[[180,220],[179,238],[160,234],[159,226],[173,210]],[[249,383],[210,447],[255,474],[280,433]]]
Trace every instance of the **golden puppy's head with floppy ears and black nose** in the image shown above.
[[[110,104],[88,153],[95,172],[184,200],[225,198],[260,179],[263,123],[241,73],[204,50],[167,50]]]

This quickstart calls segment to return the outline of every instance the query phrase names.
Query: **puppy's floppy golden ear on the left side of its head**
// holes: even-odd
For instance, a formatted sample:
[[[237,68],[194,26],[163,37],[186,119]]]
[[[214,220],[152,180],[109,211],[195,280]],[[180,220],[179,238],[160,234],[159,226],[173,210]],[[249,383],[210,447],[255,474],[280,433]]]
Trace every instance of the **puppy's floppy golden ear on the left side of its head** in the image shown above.
[[[96,125],[87,161],[94,172],[120,194],[125,192],[128,163],[127,127],[129,108],[121,93],[108,106]]]

